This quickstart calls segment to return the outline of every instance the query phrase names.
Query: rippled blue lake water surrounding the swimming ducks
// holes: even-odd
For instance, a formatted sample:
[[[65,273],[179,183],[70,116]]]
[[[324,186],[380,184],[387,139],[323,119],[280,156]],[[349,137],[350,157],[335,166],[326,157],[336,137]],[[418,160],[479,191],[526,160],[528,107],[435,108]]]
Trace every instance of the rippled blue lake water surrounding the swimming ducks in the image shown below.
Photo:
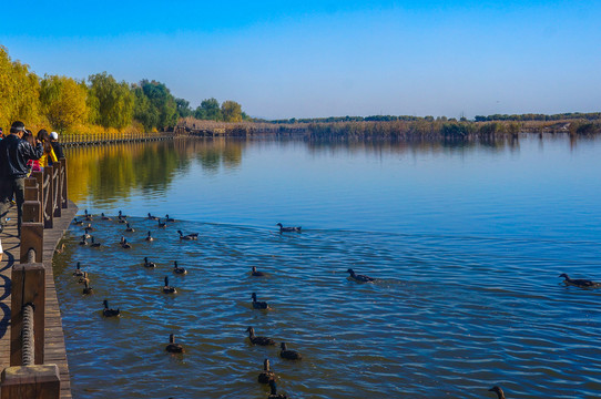
[[[176,141],[67,155],[81,212],[122,209],[136,228],[94,218],[95,249],[72,226],[54,258],[75,398],[266,398],[264,358],[291,398],[493,398],[493,385],[508,398],[600,396],[601,290],[558,275],[601,280],[601,140]],[[149,212],[176,222],[160,229]],[[352,282],[348,267],[378,280]],[[179,294],[161,293],[164,276]],[[252,293],[273,309],[253,309]],[[104,298],[121,318],[101,317]],[[248,326],[304,359],[252,346]],[[185,355],[164,351],[171,332]]]

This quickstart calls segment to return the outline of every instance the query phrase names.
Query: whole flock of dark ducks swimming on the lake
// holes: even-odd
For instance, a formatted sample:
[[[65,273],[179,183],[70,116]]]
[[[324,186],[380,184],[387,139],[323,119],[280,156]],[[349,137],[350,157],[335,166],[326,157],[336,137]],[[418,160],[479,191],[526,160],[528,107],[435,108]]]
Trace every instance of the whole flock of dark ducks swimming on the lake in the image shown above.
[[[110,243],[110,244],[95,242],[94,236],[90,234],[91,232],[95,231],[95,227],[92,226],[92,222],[94,221],[94,217],[100,218],[102,221],[114,221],[116,223],[123,224],[125,226],[124,231],[126,233],[135,233],[135,228],[128,222],[128,216],[123,215],[121,211],[119,211],[119,214],[116,216],[111,217],[111,216],[104,215],[104,213],[102,213],[100,216],[92,215],[88,213],[88,209],[85,209],[84,214],[81,215],[79,219],[78,217],[73,219],[74,225],[83,227],[83,234],[81,235],[81,241],[79,243],[81,246],[88,246],[91,248],[99,248],[101,246],[120,246],[123,249],[130,249],[132,247],[131,243],[129,243],[124,236],[121,236],[121,239],[119,242]],[[176,221],[174,218],[171,218],[169,215],[165,215],[164,218],[160,218],[157,216],[151,215],[150,213],[147,214],[147,219],[155,221],[157,228],[166,228],[167,224],[176,223]],[[279,227],[281,234],[302,232],[302,227],[299,226],[286,227],[282,225],[281,223],[277,223],[276,226]],[[198,239],[198,233],[184,234],[180,229],[177,229],[176,233],[179,234],[180,241],[197,241]],[[145,234],[146,236],[144,241],[152,242],[155,239],[152,236],[152,233],[150,231],[147,231]],[[64,252],[64,244],[62,245],[60,249],[57,249],[58,254],[61,254],[63,252]],[[145,268],[157,267],[157,265],[151,262],[147,257],[144,257],[144,260],[142,262],[142,266]],[[346,272],[349,274],[348,278],[357,283],[361,283],[361,284],[374,283],[377,280],[374,277],[356,274],[355,270],[353,270],[352,268],[348,268]],[[180,267],[177,265],[177,260],[174,260],[172,273],[174,275],[186,275],[187,270],[184,267]],[[74,278],[78,279],[78,283],[83,284],[84,286],[84,288],[82,289],[83,295],[91,295],[94,293],[93,288],[91,287],[91,280],[89,278],[88,273],[81,269],[81,263],[79,262],[77,263],[75,270],[73,272],[72,275]],[[256,266],[252,266],[251,276],[261,278],[261,277],[265,277],[266,274],[261,270],[257,270]],[[567,274],[561,274],[559,275],[559,277],[564,278],[563,283],[568,286],[574,286],[574,287],[584,288],[584,289],[601,288],[601,283],[595,283],[588,279],[572,279]],[[177,294],[177,289],[170,285],[169,276],[164,277],[164,286],[162,288],[162,293],[165,295]],[[253,309],[271,310],[271,307],[266,301],[261,301],[257,299],[256,293],[252,293],[251,299],[252,299],[251,305]],[[104,299],[102,304],[103,304],[103,308],[102,308],[103,317],[120,317],[121,316],[121,310],[119,308],[114,309],[110,307],[109,299]],[[265,337],[265,336],[255,335],[255,329],[252,326],[248,326],[248,328],[246,329],[246,332],[248,334],[248,341],[252,345],[265,346],[265,347],[277,346],[277,342],[274,339],[269,337]],[[170,354],[183,355],[185,354],[185,347],[181,344],[175,342],[175,335],[171,334],[169,337],[169,344],[165,346],[165,351]],[[279,357],[282,359],[289,360],[289,361],[303,360],[303,356],[300,355],[300,352],[297,350],[288,349],[287,344],[284,341],[279,342]],[[258,361],[259,360],[257,359],[257,364]],[[257,382],[269,386],[271,393],[268,395],[268,399],[288,398],[287,395],[277,392],[277,386],[276,386],[277,379],[278,379],[277,375],[271,369],[269,359],[264,358],[263,371],[258,374]],[[488,389],[488,391],[495,392],[498,399],[506,398],[503,390],[498,386],[495,386]]]

